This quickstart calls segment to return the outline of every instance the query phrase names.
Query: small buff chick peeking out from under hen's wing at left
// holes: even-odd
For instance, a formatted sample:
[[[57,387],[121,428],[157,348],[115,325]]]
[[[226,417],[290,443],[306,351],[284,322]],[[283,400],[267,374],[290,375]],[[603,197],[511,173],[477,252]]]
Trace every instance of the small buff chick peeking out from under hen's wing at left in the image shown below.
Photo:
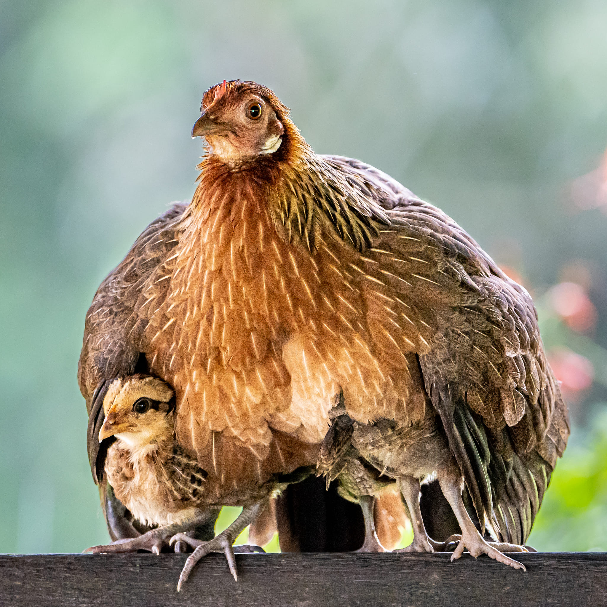
[[[107,450],[104,467],[107,480],[116,497],[140,523],[158,527],[140,537],[93,546],[87,551],[148,550],[160,554],[162,548],[175,543],[171,542],[175,534],[189,532],[187,538],[191,538],[194,529],[209,525],[212,528],[220,506],[205,500],[206,470],[198,466],[195,455],[175,441],[174,390],[149,375],[115,379],[107,390],[103,409],[106,418],[99,441],[115,437]],[[232,526],[224,534],[230,539],[233,536],[233,543],[246,524]],[[239,531],[234,535],[236,529]],[[181,547],[186,543],[182,539]],[[258,546],[239,548],[246,552],[262,551]],[[233,554],[228,556],[231,569],[235,567],[233,558]]]

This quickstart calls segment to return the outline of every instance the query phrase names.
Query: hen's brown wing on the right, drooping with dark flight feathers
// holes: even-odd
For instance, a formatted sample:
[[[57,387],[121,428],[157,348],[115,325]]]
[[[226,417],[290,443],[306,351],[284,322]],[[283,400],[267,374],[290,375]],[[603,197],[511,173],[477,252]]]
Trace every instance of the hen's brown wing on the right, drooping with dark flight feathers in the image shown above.
[[[416,289],[415,312],[426,300],[436,313],[433,349],[419,356],[426,390],[481,525],[497,513],[496,531],[509,538],[504,541],[522,543],[552,469],[538,452],[549,452],[554,466],[568,436],[566,407],[543,354],[531,298],[441,211],[399,191],[376,169],[350,166],[399,196],[396,204],[378,203],[392,209],[404,238],[375,246],[422,260],[404,277]],[[419,289],[424,277],[432,283]]]

